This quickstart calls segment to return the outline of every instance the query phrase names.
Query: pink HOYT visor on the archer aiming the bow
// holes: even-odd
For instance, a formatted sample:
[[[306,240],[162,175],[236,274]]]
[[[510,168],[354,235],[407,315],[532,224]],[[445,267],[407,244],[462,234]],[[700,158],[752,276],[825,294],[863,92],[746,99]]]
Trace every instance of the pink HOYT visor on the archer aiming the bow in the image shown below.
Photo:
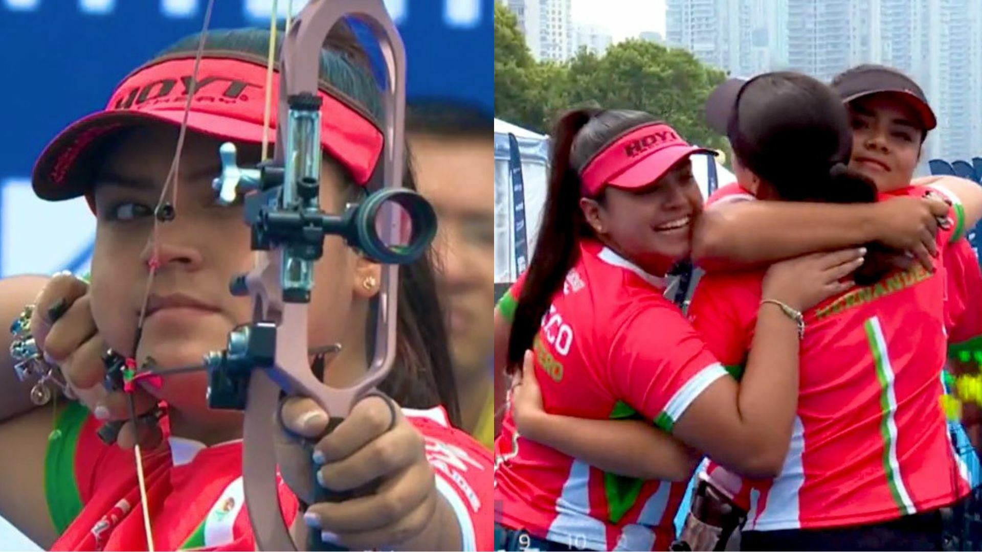
[[[181,125],[193,89],[188,128],[215,138],[259,143],[265,110],[266,66],[236,52],[212,52],[201,58],[194,75],[193,55],[164,57],[132,73],[120,84],[103,111],[88,115],[62,131],[44,148],[34,165],[34,192],[44,199],[68,199],[87,193],[91,163],[80,163],[98,138],[121,129],[157,121]],[[273,74],[270,133],[276,138],[279,73]],[[383,135],[371,119],[327,83],[319,84],[321,146],[365,185],[383,147]],[[217,156],[217,152],[216,152]]]

